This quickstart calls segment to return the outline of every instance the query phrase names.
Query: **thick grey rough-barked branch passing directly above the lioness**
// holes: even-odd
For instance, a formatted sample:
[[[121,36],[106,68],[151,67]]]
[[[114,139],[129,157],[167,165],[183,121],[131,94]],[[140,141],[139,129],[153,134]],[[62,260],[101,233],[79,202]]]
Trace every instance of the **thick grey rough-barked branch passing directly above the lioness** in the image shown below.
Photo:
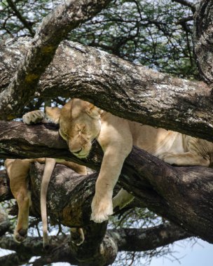
[[[3,92],[29,43],[19,39],[1,47]],[[60,45],[32,98],[36,95],[80,97],[117,116],[213,140],[212,94],[205,83],[173,78],[78,43]],[[14,105],[11,116],[20,114]]]

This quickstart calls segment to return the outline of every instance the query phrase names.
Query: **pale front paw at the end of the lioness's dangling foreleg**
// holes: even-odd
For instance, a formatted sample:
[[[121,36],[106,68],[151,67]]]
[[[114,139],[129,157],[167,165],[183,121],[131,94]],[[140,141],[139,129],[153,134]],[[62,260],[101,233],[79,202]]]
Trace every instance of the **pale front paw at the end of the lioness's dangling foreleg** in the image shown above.
[[[93,197],[92,200],[92,214],[90,220],[95,223],[102,223],[107,221],[109,216],[113,214],[111,198]]]

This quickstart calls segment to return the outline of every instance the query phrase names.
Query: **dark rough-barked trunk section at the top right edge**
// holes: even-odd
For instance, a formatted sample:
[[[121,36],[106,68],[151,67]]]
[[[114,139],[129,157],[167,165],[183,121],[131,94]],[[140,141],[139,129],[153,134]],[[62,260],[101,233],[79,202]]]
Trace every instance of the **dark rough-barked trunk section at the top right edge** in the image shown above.
[[[212,87],[213,1],[200,1],[194,17],[193,39],[200,75]]]

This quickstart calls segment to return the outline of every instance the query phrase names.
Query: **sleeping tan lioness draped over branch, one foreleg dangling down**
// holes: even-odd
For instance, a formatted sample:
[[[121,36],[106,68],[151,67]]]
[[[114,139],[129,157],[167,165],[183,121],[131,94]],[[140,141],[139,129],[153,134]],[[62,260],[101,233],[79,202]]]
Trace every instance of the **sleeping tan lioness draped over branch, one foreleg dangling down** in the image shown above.
[[[208,167],[212,162],[213,144],[209,141],[118,118],[81,99],[71,99],[62,109],[48,107],[46,115],[60,124],[60,135],[78,158],[88,156],[94,139],[102,146],[104,158],[92,200],[91,219],[96,223],[113,214],[113,189],[132,145],[170,165]],[[114,205],[122,204],[122,197],[128,201],[125,190],[118,193]]]

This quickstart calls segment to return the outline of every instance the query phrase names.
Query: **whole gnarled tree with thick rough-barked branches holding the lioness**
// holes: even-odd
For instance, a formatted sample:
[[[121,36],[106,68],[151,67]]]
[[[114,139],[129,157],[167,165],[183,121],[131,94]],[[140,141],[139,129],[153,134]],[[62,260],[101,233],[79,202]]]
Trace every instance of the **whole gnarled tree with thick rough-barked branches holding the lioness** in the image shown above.
[[[194,50],[198,69],[205,83],[181,79],[186,76],[185,66],[184,68],[177,68],[174,65],[171,68],[165,67],[164,70],[170,69],[170,73],[177,73],[178,69],[181,70],[179,78],[172,77],[168,73],[146,69],[88,45],[62,41],[70,30],[75,29],[76,32],[76,27],[86,20],[90,25],[89,29],[93,24],[99,25],[104,12],[102,9],[107,6],[108,2],[75,1],[72,3],[72,1],[66,1],[66,4],[55,8],[52,15],[44,18],[40,27],[35,31],[31,26],[32,23],[25,19],[24,14],[17,13],[19,1],[17,3],[7,1],[6,8],[13,9],[21,24],[25,25],[27,35],[30,34],[31,37],[13,38],[1,43],[1,119],[20,118],[25,110],[41,105],[44,99],[71,96],[88,100],[117,116],[212,141],[212,135],[209,132],[212,130],[210,66],[213,2],[202,0],[195,7],[190,1],[174,1],[176,4],[188,6],[191,12],[195,13]],[[120,2],[116,1],[115,4],[118,5],[118,3]],[[87,44],[102,46],[124,58],[128,55],[126,50],[128,47],[129,50],[135,50],[135,54],[131,52],[130,58],[125,59],[139,62],[137,51],[143,46],[139,46],[139,41],[135,40],[140,36],[139,32],[142,29],[140,23],[144,21],[142,2],[121,1],[120,4],[127,3],[130,9],[128,16],[125,19],[120,16],[116,18],[116,22],[122,24],[124,20],[125,23],[135,23],[128,34],[125,32],[126,35],[123,34],[119,38],[109,36],[109,38],[103,38],[104,41],[98,42],[93,31],[91,36],[89,34],[86,36]],[[15,7],[14,4],[16,4]],[[180,38],[172,39],[169,34],[169,29],[172,31],[174,25],[171,26],[170,21],[159,22],[156,18],[150,20],[154,11],[152,10],[151,13],[148,4],[145,7],[149,11],[147,11],[149,14],[149,21],[148,19],[146,21],[147,29],[150,25],[155,25],[169,40],[168,43],[172,45],[180,43]],[[133,13],[131,8],[132,10],[137,8],[139,17],[128,22],[127,20]],[[101,15],[90,20],[101,10]],[[113,9],[108,13],[109,22],[113,21],[111,14],[114,14]],[[183,28],[182,36],[187,36],[184,49],[188,52],[187,54],[186,50],[181,50],[184,57],[179,59],[179,64],[189,62],[190,66],[194,66],[195,60],[192,56],[190,42],[191,20],[192,14],[187,18],[179,18],[177,22],[177,25]],[[109,30],[107,22],[104,20],[102,32]],[[6,23],[4,27],[8,29]],[[121,25],[120,28],[123,29]],[[73,32],[71,31],[70,37],[73,36]],[[78,34],[82,36],[84,31],[82,35],[81,30]],[[153,32],[150,36],[153,36]],[[99,40],[101,38],[102,34],[99,34]],[[152,44],[154,50],[156,42],[153,41]],[[155,48],[153,52],[151,66],[159,70],[165,64],[165,46],[167,45],[162,44],[158,47],[160,52],[165,52],[162,57],[159,57],[158,49]],[[174,50],[174,55],[176,55],[177,49]],[[20,60],[19,64],[18,60]],[[190,78],[198,76],[192,68],[188,72]],[[60,101],[63,102],[63,99],[57,99],[57,102]],[[53,125],[27,127],[20,122],[2,121],[0,132],[0,156],[3,159],[64,158],[82,163],[92,169],[99,169],[102,151],[97,145],[87,160],[79,161],[69,153],[66,144],[59,139],[57,129]],[[33,198],[32,216],[36,217],[39,216],[38,197],[41,173],[41,165],[32,165],[29,174]],[[123,166],[119,185],[137,197],[133,206],[148,207],[154,213],[174,223],[162,223],[146,230],[130,230],[130,228],[107,230],[107,223],[90,223],[90,202],[96,177],[95,173],[86,177],[78,176],[76,179],[76,175],[69,172],[69,169],[57,166],[49,188],[50,218],[53,221],[55,218],[56,221],[69,227],[83,227],[85,243],[82,246],[72,244],[66,235],[53,237],[50,253],[45,256],[41,250],[41,238],[34,239],[36,244],[31,246],[27,241],[22,245],[15,244],[10,237],[4,236],[1,237],[1,246],[11,248],[16,253],[4,256],[1,262],[4,264],[8,262],[8,265],[15,263],[20,265],[28,262],[32,255],[41,255],[34,265],[62,260],[74,265],[109,265],[114,261],[117,251],[145,251],[191,236],[198,236],[212,243],[212,212],[209,211],[212,208],[212,169],[171,167],[148,153],[134,148]],[[57,180],[60,180],[60,186]],[[1,184],[2,190],[4,188],[1,193],[2,200],[11,198],[5,172],[1,172]],[[55,190],[60,191],[57,197],[54,197]],[[4,223],[2,223],[1,234],[4,235],[10,223],[5,215],[2,221]],[[135,246],[134,243],[137,245]],[[22,248],[25,248],[24,252]]]

